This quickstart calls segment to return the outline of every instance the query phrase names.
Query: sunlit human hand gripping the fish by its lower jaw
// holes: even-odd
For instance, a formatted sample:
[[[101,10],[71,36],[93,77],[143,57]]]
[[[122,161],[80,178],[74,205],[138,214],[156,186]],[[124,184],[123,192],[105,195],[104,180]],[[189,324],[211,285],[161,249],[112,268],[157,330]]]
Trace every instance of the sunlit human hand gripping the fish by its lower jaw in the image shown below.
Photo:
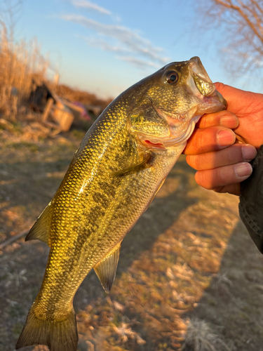
[[[248,161],[255,157],[255,148],[263,144],[263,95],[222,83],[215,86],[227,100],[227,110],[201,118],[184,154],[187,163],[198,171],[199,185],[238,195],[241,181],[252,173]],[[243,144],[234,144],[236,139]]]

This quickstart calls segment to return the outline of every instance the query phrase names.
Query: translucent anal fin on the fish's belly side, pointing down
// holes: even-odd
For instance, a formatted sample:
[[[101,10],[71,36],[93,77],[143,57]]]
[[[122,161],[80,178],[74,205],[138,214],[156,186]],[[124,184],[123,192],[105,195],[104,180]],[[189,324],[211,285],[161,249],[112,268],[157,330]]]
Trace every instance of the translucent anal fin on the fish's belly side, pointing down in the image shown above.
[[[112,289],[112,284],[114,283],[116,277],[120,251],[121,243],[116,245],[114,249],[94,267],[97,277],[100,279],[106,293],[109,293],[109,291]]]

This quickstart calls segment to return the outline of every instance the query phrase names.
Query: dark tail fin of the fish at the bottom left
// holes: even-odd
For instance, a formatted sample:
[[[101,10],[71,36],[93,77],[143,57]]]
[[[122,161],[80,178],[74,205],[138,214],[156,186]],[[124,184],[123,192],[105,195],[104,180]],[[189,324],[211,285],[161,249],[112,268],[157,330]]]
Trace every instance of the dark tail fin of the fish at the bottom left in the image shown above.
[[[76,351],[77,343],[78,332],[73,308],[66,319],[56,321],[36,318],[33,305],[15,350],[31,345],[47,345],[50,351]]]

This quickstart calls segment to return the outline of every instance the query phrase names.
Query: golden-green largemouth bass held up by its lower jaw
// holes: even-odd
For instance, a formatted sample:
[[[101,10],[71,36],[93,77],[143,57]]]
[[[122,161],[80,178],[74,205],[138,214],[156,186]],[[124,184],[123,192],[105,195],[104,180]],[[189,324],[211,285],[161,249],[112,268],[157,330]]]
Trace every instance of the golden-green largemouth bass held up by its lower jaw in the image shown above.
[[[15,349],[76,351],[74,295],[94,269],[109,293],[121,242],[163,185],[198,119],[224,110],[200,58],[172,62],[121,93],[84,136],[26,240],[50,246]]]

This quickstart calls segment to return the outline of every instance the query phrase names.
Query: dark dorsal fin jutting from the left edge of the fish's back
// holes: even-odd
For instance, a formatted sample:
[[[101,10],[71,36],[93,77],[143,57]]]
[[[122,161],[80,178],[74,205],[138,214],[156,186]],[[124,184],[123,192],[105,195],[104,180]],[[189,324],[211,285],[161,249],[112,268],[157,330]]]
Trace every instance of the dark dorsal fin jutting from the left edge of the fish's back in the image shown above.
[[[33,227],[29,230],[25,241],[39,239],[48,244],[48,232],[51,225],[52,214],[53,211],[50,202],[48,206],[46,206],[46,208],[43,210],[39,218],[37,218],[36,223],[34,223]]]

